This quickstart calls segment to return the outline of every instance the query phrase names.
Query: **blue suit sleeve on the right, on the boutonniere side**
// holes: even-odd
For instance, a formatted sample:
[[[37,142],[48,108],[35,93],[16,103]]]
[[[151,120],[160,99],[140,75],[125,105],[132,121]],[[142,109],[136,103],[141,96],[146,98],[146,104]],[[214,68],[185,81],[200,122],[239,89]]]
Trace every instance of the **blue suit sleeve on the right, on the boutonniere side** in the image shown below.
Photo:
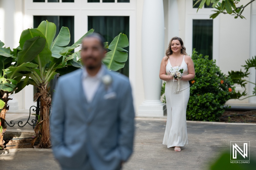
[[[126,88],[123,88],[126,87]],[[134,138],[134,107],[132,89],[129,81],[122,87],[122,96],[119,105],[119,152],[122,161],[127,161],[132,154]]]

